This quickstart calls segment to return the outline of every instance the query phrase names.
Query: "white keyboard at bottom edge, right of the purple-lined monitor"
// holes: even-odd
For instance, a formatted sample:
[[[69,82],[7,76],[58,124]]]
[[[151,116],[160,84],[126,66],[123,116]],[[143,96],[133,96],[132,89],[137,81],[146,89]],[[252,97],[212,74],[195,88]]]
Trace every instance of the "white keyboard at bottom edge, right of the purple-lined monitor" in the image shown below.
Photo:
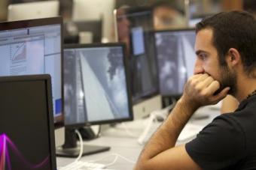
[[[59,170],[97,170],[104,169],[105,165],[101,163],[89,163],[85,161],[75,161],[67,166],[61,167]]]

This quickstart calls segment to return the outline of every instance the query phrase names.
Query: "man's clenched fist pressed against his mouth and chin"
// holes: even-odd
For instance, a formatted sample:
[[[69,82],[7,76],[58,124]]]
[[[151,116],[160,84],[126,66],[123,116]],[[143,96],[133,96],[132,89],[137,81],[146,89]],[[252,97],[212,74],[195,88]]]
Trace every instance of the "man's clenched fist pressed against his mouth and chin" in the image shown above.
[[[184,93],[181,97],[186,104],[198,109],[200,106],[213,105],[227,96],[229,87],[224,88],[220,93],[215,91],[220,88],[220,83],[207,73],[196,74],[188,79],[184,85]]]

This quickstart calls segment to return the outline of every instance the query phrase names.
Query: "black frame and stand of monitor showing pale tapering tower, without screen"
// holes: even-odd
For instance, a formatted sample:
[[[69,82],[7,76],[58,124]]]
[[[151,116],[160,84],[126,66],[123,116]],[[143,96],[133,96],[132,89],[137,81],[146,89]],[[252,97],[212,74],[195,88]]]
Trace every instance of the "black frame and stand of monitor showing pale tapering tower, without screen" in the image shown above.
[[[130,79],[129,79],[129,72],[128,72],[128,62],[125,55],[125,44],[124,43],[91,43],[91,44],[67,44],[65,49],[82,49],[82,48],[99,48],[99,47],[122,47],[123,49],[123,66],[124,72],[126,76],[126,91],[128,97],[128,109],[129,109],[129,117],[128,118],[121,118],[121,119],[113,119],[113,120],[105,120],[105,121],[90,121],[78,124],[67,124],[65,128],[65,144],[62,147],[56,149],[56,155],[58,157],[78,157],[79,148],[77,147],[77,137],[75,134],[75,130],[80,130],[83,139],[93,139],[95,138],[95,134],[92,130],[90,130],[90,125],[93,124],[112,124],[118,123],[121,121],[132,121],[133,120],[133,108],[132,108],[132,101],[131,101],[131,92],[130,92]],[[65,56],[64,56],[65,57]],[[64,59],[63,59],[64,61]],[[65,76],[65,75],[63,75]],[[65,79],[65,77],[64,77]],[[65,101],[64,101],[65,102]],[[85,129],[86,128],[86,129]],[[87,134],[84,136],[83,134]],[[90,137],[88,136],[90,134]],[[89,154],[96,154],[102,151],[108,151],[110,148],[105,146],[93,146],[93,145],[84,145],[84,155]]]

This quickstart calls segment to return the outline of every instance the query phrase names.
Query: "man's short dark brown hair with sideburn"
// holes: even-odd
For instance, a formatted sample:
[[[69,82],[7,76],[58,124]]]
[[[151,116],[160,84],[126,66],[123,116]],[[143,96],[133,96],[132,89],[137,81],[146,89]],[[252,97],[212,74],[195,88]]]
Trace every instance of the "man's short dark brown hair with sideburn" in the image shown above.
[[[203,19],[196,25],[196,33],[204,28],[213,31],[212,44],[218,52],[222,66],[227,65],[225,56],[230,48],[239,51],[248,76],[256,68],[256,22],[245,11],[222,12]]]

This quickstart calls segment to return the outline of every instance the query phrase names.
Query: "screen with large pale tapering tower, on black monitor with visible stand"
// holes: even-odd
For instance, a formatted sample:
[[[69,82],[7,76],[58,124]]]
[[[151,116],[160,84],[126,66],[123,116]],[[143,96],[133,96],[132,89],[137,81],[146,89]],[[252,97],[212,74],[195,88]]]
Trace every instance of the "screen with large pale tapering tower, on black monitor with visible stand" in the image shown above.
[[[64,49],[65,124],[133,119],[124,45],[70,45]]]

